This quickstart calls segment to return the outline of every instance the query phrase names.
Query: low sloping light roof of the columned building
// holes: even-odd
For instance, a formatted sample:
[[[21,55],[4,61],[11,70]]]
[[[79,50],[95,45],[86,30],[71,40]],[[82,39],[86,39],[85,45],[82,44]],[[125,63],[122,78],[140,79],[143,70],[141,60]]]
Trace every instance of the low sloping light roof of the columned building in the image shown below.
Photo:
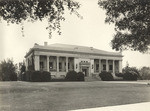
[[[50,45],[35,44],[34,47],[31,48],[30,51],[26,54],[26,56],[28,56],[28,54],[30,54],[32,50],[64,51],[64,52],[70,52],[70,53],[73,52],[73,53],[98,54],[98,55],[107,55],[107,56],[110,55],[110,56],[122,57],[122,54],[119,52],[108,52],[108,51],[99,50],[93,47],[59,44],[59,43],[50,44]]]

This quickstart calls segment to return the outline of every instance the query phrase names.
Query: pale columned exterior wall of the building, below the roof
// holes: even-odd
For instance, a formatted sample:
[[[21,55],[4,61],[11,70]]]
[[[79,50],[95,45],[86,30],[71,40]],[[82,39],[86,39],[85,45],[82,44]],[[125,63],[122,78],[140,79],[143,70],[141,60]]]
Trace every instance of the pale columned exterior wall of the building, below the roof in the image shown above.
[[[26,66],[31,57],[32,54],[26,58]],[[50,71],[57,78],[64,77],[68,71],[80,72],[85,68],[88,76],[92,76],[110,69],[112,73],[122,72],[122,57],[35,51],[34,65],[35,70]]]

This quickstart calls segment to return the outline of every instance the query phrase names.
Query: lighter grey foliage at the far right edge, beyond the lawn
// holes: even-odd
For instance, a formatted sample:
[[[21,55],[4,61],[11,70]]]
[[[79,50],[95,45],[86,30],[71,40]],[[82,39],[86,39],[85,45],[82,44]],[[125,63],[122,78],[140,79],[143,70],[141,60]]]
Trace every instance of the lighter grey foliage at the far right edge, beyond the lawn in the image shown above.
[[[150,80],[150,67],[142,67],[139,72],[143,80]]]

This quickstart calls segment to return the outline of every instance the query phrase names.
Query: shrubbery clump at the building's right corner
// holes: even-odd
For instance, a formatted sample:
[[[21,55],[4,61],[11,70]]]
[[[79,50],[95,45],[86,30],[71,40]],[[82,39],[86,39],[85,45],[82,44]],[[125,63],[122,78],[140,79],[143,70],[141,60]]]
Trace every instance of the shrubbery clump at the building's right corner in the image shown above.
[[[123,68],[123,79],[124,80],[137,80],[140,78],[139,70],[136,67],[125,67]]]

